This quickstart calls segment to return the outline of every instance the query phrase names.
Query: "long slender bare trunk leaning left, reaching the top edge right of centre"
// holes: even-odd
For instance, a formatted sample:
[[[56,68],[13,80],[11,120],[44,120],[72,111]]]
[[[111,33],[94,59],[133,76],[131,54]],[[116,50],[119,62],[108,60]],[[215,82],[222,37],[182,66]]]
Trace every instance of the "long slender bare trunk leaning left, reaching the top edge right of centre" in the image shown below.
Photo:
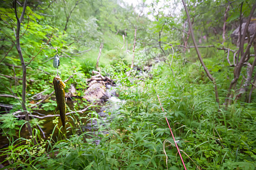
[[[201,62],[201,65],[204,67],[204,71],[205,71],[205,73],[207,74],[208,78],[209,78],[209,79],[212,81],[212,83],[214,84],[214,91],[215,91],[216,102],[217,102],[217,103],[220,103],[220,100],[218,99],[217,84],[216,84],[215,79],[213,78],[212,74],[210,74],[209,70],[208,70],[207,67],[205,66],[204,61],[203,61],[203,58],[201,57],[201,53],[199,52],[199,48],[197,48],[195,36],[194,36],[194,33],[193,33],[193,29],[192,29],[192,23],[191,23],[191,20],[190,20],[190,16],[189,16],[189,14],[188,14],[188,8],[187,8],[187,6],[185,5],[184,0],[182,0],[182,2],[183,2],[183,5],[184,5],[184,8],[185,8],[185,12],[186,12],[186,14],[187,14],[188,24],[189,24],[189,28],[190,28],[190,31],[191,31],[191,37],[192,37],[192,40],[193,40],[193,44],[195,45],[195,49],[196,49],[197,56],[198,56],[198,58],[199,58],[199,61]]]

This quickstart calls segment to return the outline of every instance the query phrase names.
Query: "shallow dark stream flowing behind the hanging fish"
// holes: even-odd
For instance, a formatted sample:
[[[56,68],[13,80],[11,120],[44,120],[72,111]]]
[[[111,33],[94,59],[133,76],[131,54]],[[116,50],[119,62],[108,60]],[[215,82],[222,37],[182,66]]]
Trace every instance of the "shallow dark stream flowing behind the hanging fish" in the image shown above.
[[[112,91],[113,88],[107,88],[106,94],[109,96],[108,99],[104,102],[90,103],[86,107],[89,107],[89,105],[92,105],[92,107],[89,107],[85,112],[69,114],[67,116],[68,120],[66,122],[67,136],[72,134],[81,134],[84,132],[88,132],[90,135],[96,135],[94,132],[98,131],[98,126],[109,126],[110,121],[113,119],[115,113],[123,103],[120,99],[118,99],[118,97],[116,97],[115,92],[113,93]],[[74,104],[78,103],[79,105],[79,103],[81,104],[83,102],[84,101],[80,99],[67,99],[66,104],[69,109],[67,109],[66,113],[75,111]],[[42,117],[50,114],[54,115],[55,113],[53,111],[38,110],[33,114]],[[30,119],[33,121],[32,118]],[[44,120],[42,124],[36,126],[36,128],[40,130],[41,137],[48,138],[52,135],[52,139],[57,141],[57,137],[59,136],[59,129],[55,127],[53,122],[58,120],[57,126],[61,127],[60,117],[46,117],[39,120]],[[13,135],[13,138],[10,139],[9,135],[6,136],[5,133],[1,130],[0,148],[8,147],[10,142],[15,141],[15,139],[18,139],[19,137],[30,137],[26,125],[23,125],[22,128],[16,129],[14,133],[15,135]],[[108,132],[103,131],[100,133],[102,134]],[[86,138],[90,138],[90,135],[86,135]],[[100,141],[94,142],[97,145]]]

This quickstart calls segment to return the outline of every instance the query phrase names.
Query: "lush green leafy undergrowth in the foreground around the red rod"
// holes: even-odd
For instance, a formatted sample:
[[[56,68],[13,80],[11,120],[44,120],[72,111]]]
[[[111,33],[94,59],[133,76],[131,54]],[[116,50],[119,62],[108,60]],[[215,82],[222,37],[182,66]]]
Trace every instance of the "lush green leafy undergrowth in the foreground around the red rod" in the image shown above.
[[[160,62],[150,78],[135,71],[131,77],[125,76],[129,67],[122,61],[116,66],[105,71],[119,70],[112,75],[121,83],[119,98],[125,103],[109,113],[114,116],[110,124],[92,134],[79,134],[75,129],[82,128],[79,122],[84,118],[79,116],[73,120],[77,126],[72,127],[73,135],[68,139],[40,138],[37,146],[32,146],[31,139],[10,140],[10,146],[1,151],[10,162],[9,168],[182,169],[167,116],[188,169],[253,169],[255,103],[236,101],[218,111],[212,83],[204,75],[196,78],[201,81],[190,82],[191,65],[182,65],[181,60],[174,62],[174,75]],[[88,114],[97,118],[95,112]],[[86,138],[88,135],[92,138]],[[93,141],[98,139],[100,144],[96,145]]]

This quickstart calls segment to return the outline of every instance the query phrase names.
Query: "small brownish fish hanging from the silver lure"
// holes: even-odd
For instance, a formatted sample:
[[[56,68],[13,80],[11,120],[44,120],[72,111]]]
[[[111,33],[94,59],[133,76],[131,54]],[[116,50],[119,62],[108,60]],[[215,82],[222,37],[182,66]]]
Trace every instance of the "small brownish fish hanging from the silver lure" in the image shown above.
[[[65,113],[66,113],[66,104],[65,104],[65,83],[61,80],[60,76],[55,76],[53,78],[53,86],[55,90],[55,96],[57,101],[56,111],[60,112],[60,120],[62,122],[64,133],[66,133],[65,128]]]

